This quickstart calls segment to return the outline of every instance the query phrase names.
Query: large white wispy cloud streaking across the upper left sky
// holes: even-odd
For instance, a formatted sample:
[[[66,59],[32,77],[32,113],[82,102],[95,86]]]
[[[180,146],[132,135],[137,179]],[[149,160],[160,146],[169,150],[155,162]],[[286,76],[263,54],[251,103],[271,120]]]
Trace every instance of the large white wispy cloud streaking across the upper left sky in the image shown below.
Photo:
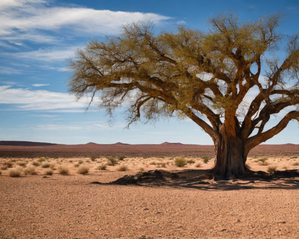
[[[170,19],[155,13],[53,7],[47,3],[39,0],[2,0],[0,39],[49,43],[59,41],[57,32],[73,36],[82,33],[114,35],[120,33],[123,24],[138,21],[159,23]]]

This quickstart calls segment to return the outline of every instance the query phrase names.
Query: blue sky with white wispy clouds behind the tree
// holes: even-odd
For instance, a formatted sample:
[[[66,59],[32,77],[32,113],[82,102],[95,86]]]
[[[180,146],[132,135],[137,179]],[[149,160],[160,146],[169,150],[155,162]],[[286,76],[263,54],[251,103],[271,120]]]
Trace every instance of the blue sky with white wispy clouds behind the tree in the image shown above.
[[[121,33],[123,24],[152,21],[156,29],[175,24],[207,29],[207,17],[219,11],[239,12],[244,20],[284,11],[280,30],[299,31],[299,3],[287,1],[0,1],[0,140],[49,143],[213,144],[191,121],[160,120],[129,130],[121,110],[112,126],[105,112],[87,99],[74,101],[67,92],[65,59],[97,38]],[[279,118],[279,117],[278,117]],[[277,119],[276,119],[277,120]],[[271,120],[271,124],[275,119]],[[266,143],[299,143],[297,122]]]

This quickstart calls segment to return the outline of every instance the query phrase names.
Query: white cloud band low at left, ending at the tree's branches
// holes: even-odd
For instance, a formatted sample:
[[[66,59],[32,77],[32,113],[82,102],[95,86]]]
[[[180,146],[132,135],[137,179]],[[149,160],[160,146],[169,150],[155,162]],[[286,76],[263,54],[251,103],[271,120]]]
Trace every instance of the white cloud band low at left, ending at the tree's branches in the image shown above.
[[[73,95],[45,90],[29,90],[0,86],[0,104],[8,104],[11,110],[57,110],[75,108],[83,112],[88,99],[75,101]]]

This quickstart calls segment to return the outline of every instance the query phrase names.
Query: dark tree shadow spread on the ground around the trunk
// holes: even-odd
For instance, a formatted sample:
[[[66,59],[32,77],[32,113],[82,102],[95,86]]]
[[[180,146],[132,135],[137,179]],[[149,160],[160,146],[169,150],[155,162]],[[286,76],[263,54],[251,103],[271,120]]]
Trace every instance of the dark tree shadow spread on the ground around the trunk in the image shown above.
[[[102,185],[138,185],[145,187],[168,186],[206,191],[227,191],[241,189],[298,189],[298,170],[251,171],[246,177],[233,180],[213,180],[213,170],[164,171],[151,170],[136,175],[125,175],[110,183],[92,182]]]

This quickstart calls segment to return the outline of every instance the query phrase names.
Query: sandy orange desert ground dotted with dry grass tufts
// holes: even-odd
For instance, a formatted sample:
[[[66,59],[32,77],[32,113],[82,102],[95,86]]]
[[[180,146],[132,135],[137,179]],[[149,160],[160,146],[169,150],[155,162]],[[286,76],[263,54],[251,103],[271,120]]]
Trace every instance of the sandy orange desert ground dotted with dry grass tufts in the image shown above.
[[[7,150],[3,147],[0,155]],[[173,149],[174,155],[169,155],[171,147],[166,150],[169,154],[146,151],[144,157],[136,148],[130,149],[131,156],[118,149],[111,156],[109,151],[102,151],[102,156],[97,151],[92,153],[97,156],[90,157],[47,157],[47,149],[39,152],[40,157],[1,155],[0,238],[299,237],[297,177],[167,185],[110,183],[152,170],[184,175],[213,168],[210,149],[202,151],[208,156],[198,157],[198,151],[182,148]],[[299,169],[298,145],[277,148],[257,149],[248,157],[248,167],[269,173]],[[7,151],[20,155],[22,150],[11,146]]]

